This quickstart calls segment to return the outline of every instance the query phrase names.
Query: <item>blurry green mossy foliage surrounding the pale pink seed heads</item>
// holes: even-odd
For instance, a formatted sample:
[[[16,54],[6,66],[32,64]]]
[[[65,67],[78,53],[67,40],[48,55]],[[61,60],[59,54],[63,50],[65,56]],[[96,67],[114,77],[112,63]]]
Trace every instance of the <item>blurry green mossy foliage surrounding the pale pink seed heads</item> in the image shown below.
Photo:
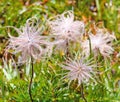
[[[94,9],[91,10],[92,6]],[[120,102],[120,56],[115,56],[120,53],[119,0],[0,0],[0,102],[30,102],[30,75],[25,74],[26,67],[21,66],[18,76],[10,81],[2,70],[2,56],[8,40],[5,26],[20,27],[33,16],[45,22],[47,18],[71,9],[75,11],[76,19],[86,20],[88,24],[89,21],[102,22],[117,37],[112,61],[104,64],[101,72],[109,70],[101,74],[102,83],[91,82],[84,86],[86,99],[88,102]],[[15,32],[11,31],[11,34],[14,35]],[[80,88],[76,88],[74,84],[68,87],[68,80],[61,79],[63,71],[58,63],[63,61],[64,56],[57,54],[34,65],[34,102],[84,102]]]

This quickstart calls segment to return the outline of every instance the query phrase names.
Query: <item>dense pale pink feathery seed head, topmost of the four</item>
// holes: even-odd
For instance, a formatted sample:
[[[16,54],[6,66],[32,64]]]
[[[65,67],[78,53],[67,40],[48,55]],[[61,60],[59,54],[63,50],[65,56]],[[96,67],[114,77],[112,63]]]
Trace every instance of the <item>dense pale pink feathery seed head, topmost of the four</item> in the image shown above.
[[[56,39],[76,41],[81,38],[84,33],[84,23],[74,20],[73,11],[64,12],[61,15],[53,17],[48,21],[51,28],[51,34],[55,35]]]

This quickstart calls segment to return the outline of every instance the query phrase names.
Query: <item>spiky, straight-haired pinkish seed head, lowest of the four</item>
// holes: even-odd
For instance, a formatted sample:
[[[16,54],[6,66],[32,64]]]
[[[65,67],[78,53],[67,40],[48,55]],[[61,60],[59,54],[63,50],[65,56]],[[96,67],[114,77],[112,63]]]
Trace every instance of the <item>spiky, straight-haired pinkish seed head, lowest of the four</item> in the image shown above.
[[[93,73],[92,67],[94,67],[94,65],[91,65],[90,60],[85,62],[84,58],[80,60],[69,59],[65,65],[62,66],[63,69],[69,71],[65,78],[69,78],[70,82],[72,80],[78,80],[78,85],[88,82],[89,79],[93,79],[91,76],[91,73]]]

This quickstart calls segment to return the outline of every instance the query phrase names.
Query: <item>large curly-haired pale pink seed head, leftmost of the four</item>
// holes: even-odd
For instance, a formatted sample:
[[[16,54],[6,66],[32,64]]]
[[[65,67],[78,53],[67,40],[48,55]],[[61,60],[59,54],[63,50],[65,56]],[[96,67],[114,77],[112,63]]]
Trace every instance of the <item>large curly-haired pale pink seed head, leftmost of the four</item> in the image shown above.
[[[21,28],[12,27],[18,33],[17,37],[9,34],[7,50],[12,49],[14,54],[20,53],[20,62],[25,63],[29,58],[38,59],[51,48],[47,37],[42,36],[43,27],[39,27],[36,18],[30,18]]]

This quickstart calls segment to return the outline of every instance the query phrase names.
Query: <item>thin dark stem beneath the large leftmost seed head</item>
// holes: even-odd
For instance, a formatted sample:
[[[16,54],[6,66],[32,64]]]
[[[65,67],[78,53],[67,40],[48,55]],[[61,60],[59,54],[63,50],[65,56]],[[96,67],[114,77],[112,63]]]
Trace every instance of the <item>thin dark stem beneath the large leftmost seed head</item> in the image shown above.
[[[32,98],[32,94],[31,94],[31,86],[32,86],[32,81],[33,81],[33,59],[31,58],[31,77],[30,77],[30,83],[29,83],[29,96],[30,96],[30,100],[31,102],[33,102],[33,98]]]

